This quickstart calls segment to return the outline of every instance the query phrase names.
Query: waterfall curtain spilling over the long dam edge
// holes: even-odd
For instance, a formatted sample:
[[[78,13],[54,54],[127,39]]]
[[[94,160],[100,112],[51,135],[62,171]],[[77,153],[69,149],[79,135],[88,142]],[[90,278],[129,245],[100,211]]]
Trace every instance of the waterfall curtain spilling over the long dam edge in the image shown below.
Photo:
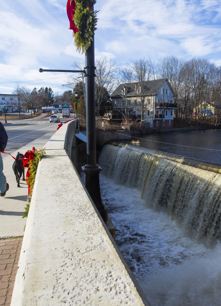
[[[167,212],[186,235],[221,240],[221,166],[111,142],[100,155],[103,174],[137,188],[148,208]]]

